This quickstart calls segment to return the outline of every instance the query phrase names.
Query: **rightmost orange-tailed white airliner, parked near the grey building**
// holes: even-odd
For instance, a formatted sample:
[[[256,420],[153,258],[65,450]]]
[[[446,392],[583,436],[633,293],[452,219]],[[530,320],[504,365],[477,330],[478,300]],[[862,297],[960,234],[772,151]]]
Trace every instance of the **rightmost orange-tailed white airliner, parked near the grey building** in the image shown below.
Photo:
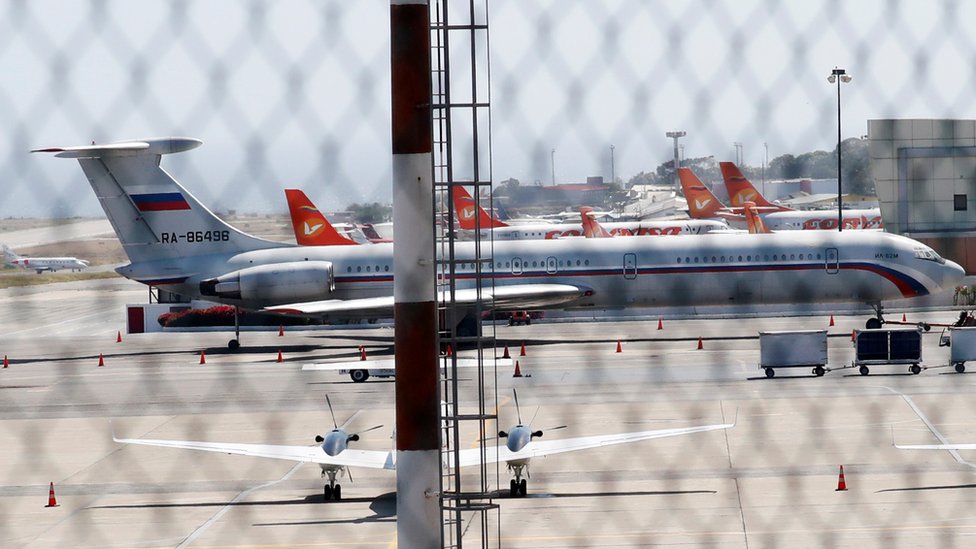
[[[769,202],[733,162],[719,162],[733,208],[753,202],[766,226],[781,230],[836,230],[837,210],[795,210]],[[879,208],[845,209],[845,229],[884,229]]]

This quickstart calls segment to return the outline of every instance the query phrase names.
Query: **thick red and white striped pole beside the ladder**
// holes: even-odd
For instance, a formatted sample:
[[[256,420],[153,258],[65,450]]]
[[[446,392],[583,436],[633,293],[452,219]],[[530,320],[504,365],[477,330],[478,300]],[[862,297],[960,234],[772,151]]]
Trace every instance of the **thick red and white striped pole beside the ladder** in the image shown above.
[[[440,395],[434,301],[430,17],[391,0],[397,545],[440,547]]]

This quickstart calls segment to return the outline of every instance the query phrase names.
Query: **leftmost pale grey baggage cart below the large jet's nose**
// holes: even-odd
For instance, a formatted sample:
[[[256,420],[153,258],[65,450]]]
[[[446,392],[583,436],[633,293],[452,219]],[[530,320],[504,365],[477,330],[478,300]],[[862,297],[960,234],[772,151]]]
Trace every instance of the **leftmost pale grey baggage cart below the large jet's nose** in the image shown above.
[[[766,377],[776,368],[811,368],[822,376],[827,372],[827,330],[759,332],[759,368]]]

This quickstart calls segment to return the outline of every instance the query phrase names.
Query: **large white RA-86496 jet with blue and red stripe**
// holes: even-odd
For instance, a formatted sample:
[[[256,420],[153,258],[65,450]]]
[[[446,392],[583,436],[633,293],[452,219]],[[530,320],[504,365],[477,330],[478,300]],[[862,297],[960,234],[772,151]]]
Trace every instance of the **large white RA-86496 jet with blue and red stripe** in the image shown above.
[[[392,316],[393,244],[296,246],[231,227],[160,167],[162,155],[201,144],[171,137],[34,152],[78,160],[129,257],[116,269],[126,278],[266,312]],[[455,257],[455,303],[472,310],[479,299],[501,310],[867,303],[877,311],[870,326],[883,322],[882,301],[964,276],[920,242],[873,231],[500,241],[480,275],[487,262],[476,265],[473,242],[457,243]],[[484,296],[479,276],[493,282]],[[464,322],[476,326],[473,316]]]

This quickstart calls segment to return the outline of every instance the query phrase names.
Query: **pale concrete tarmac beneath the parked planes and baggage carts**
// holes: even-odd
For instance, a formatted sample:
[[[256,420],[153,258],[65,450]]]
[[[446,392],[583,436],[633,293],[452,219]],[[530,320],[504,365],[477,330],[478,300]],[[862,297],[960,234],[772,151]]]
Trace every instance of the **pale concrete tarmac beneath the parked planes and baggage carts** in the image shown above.
[[[388,325],[242,334],[128,335],[124,304],[147,290],[121,279],[0,291],[0,546],[395,547],[395,475],[353,469],[343,499],[324,501],[315,465],[127,446],[119,436],[313,444],[337,420],[383,425],[355,447],[392,447],[392,380],[353,383],[310,362],[392,353]],[[905,312],[951,322],[945,307]],[[900,319],[901,312],[889,319]],[[528,496],[508,497],[490,468],[504,547],[969,546],[976,535],[976,452],[903,444],[976,442],[976,366],[957,374],[940,328],[923,365],[861,376],[851,331],[865,315],[497,325],[524,377],[497,372],[498,427],[523,419],[545,438],[735,421],[725,431],[533,461]],[[831,371],[758,368],[764,330],[824,329]],[[116,335],[123,332],[123,341]],[[491,329],[489,328],[489,331]],[[701,338],[702,349],[698,349]],[[621,352],[616,352],[617,343]],[[524,343],[526,356],[517,350]],[[277,352],[284,357],[277,363]],[[199,364],[201,351],[206,364]],[[470,351],[461,350],[460,356]],[[104,366],[98,367],[99,355]],[[473,383],[462,382],[473,397]],[[475,443],[477,433],[466,433]],[[839,466],[846,491],[836,491]],[[470,478],[470,477],[465,477]],[[497,479],[497,481],[495,480]],[[58,507],[46,508],[49,483]],[[476,516],[464,530],[479,545]]]

